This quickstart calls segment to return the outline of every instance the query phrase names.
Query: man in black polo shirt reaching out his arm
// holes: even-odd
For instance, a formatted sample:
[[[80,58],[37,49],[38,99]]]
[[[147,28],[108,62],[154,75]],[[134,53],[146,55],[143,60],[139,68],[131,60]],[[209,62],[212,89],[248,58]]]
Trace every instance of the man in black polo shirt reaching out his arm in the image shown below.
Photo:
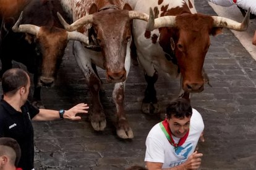
[[[17,140],[22,152],[19,167],[23,170],[33,169],[34,134],[31,120],[47,121],[59,118],[79,120],[77,113],[87,113],[87,104],[80,103],[69,110],[46,110],[33,107],[28,101],[30,78],[19,68],[7,70],[2,75],[0,101],[0,137],[12,137]]]

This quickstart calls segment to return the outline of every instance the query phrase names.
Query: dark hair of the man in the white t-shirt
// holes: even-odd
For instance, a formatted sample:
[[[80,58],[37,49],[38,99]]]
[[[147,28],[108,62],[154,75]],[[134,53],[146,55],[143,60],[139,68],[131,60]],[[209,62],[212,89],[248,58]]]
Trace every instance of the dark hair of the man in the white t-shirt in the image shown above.
[[[184,118],[185,116],[189,118],[192,116],[190,102],[186,99],[179,98],[169,103],[166,108],[166,117],[170,119],[172,116],[176,118]]]

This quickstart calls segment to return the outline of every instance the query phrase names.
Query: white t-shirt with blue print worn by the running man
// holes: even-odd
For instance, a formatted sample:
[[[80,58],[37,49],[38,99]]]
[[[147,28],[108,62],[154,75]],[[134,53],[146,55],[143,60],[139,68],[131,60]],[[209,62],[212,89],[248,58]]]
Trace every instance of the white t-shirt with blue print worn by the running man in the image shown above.
[[[163,163],[162,168],[172,168],[184,163],[194,152],[203,128],[202,116],[193,108],[189,136],[186,142],[175,151],[173,145],[169,143],[164,132],[161,130],[160,123],[156,124],[149,132],[146,140],[145,161]]]

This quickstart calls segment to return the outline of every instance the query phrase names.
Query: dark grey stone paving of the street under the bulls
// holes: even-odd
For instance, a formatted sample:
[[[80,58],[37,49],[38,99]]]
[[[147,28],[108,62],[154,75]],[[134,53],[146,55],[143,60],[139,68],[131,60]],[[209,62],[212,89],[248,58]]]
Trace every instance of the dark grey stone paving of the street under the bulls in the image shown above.
[[[216,15],[207,1],[195,0],[198,12]],[[53,88],[43,88],[42,100],[46,108],[68,109],[89,103],[90,94],[82,72],[70,46]],[[199,94],[192,94],[192,105],[203,116],[205,142],[199,145],[203,153],[200,169],[256,169],[256,62],[242,47],[234,34],[211,38],[205,69],[213,87],[205,86]],[[100,70],[105,81],[105,71]],[[35,169],[124,169],[134,164],[144,165],[145,139],[151,127],[164,118],[164,107],[179,92],[178,80],[160,74],[156,83],[161,111],[159,115],[145,115],[140,111],[146,87],[143,71],[132,65],[126,84],[125,110],[134,139],[116,136],[111,101],[113,84],[105,84],[102,95],[107,115],[107,127],[95,132],[88,120],[66,120],[33,123],[35,129]]]

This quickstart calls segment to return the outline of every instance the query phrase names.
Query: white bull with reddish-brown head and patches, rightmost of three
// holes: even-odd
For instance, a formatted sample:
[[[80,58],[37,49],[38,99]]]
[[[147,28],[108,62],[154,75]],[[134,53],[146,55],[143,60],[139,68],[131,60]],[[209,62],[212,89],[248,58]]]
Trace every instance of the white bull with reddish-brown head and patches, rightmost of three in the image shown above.
[[[210,35],[221,33],[223,27],[243,31],[249,17],[237,23],[223,17],[196,14],[190,0],[128,0],[134,10],[148,13],[148,23],[134,20],[134,41],[139,63],[148,83],[142,102],[144,113],[157,113],[158,100],[154,84],[158,69],[169,75],[181,73],[179,97],[190,98],[190,92],[203,91],[203,62],[210,46]],[[147,30],[146,30],[147,26]]]

